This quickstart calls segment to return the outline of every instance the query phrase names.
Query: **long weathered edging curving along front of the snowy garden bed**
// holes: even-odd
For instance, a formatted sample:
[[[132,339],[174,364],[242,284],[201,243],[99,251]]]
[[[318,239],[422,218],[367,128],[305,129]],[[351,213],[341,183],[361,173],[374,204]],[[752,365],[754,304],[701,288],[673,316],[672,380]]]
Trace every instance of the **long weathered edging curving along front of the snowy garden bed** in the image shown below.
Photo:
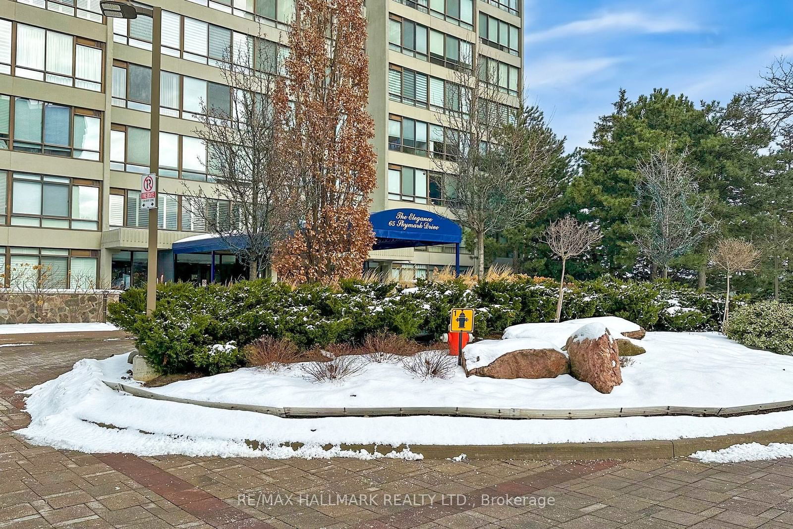
[[[181,397],[170,397],[147,389],[104,381],[105,385],[116,391],[129,393],[155,401],[195,404],[205,408],[239,410],[243,412],[265,413],[285,419],[306,419],[310,417],[379,417],[379,416],[452,416],[478,417],[483,419],[603,419],[615,417],[653,417],[653,416],[694,416],[730,417],[753,413],[780,412],[793,408],[793,401],[749,404],[727,408],[691,408],[688,406],[649,406],[645,408],[600,408],[600,409],[531,409],[531,408],[278,408],[256,404],[231,404],[226,402],[196,401]]]

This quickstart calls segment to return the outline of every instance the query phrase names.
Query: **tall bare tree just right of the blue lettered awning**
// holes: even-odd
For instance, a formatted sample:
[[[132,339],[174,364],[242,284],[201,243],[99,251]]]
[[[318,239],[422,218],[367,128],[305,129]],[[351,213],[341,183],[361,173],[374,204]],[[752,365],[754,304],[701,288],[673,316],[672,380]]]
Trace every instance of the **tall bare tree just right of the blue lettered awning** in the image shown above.
[[[463,54],[461,54],[462,56]],[[477,274],[485,273],[485,236],[525,224],[558,197],[550,165],[564,155],[535,106],[505,94],[498,71],[463,57],[450,70],[445,102],[431,125],[430,153],[443,174],[445,205],[476,236]]]

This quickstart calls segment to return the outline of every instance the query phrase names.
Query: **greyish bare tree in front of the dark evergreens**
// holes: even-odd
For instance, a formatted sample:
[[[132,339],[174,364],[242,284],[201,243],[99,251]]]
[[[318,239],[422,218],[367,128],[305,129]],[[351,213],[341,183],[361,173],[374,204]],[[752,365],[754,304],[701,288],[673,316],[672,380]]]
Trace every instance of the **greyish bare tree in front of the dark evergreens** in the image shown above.
[[[687,155],[672,154],[669,144],[637,167],[638,206],[647,204],[647,213],[631,219],[631,230],[639,251],[661,270],[662,278],[672,259],[687,254],[718,227],[710,220],[711,198],[699,194]]]

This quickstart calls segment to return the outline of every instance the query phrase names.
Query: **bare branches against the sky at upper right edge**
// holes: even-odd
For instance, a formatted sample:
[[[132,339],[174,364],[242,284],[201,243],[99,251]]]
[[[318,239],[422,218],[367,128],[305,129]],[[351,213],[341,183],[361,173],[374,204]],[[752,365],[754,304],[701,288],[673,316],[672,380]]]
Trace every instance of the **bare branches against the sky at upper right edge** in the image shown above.
[[[762,74],[763,84],[751,86],[742,94],[753,109],[765,117],[776,131],[785,123],[793,122],[793,62],[778,57]]]

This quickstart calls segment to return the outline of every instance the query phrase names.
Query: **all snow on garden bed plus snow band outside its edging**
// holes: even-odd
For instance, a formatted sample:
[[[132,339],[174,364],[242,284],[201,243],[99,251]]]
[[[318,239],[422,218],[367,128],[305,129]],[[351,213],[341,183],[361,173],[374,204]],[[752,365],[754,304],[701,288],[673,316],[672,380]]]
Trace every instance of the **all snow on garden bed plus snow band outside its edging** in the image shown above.
[[[623,371],[611,395],[562,376],[540,381],[465,378],[412,380],[399,366],[371,364],[343,384],[315,385],[294,370],[270,374],[239,370],[157,389],[182,397],[269,405],[465,405],[488,407],[602,408],[626,405],[731,405],[793,398],[793,358],[753,351],[712,334],[649,333],[646,355]],[[344,417],[282,419],[255,412],[204,408],[132,397],[102,380],[120,380],[126,355],[85,359],[59,378],[29,389],[29,427],[17,431],[32,443],[86,452],[221,456],[371,458],[341,443],[380,445],[584,443],[680,439],[748,433],[793,426],[793,412],[757,416],[630,417],[594,420],[495,420],[464,417]],[[130,381],[125,380],[126,383]],[[352,397],[355,395],[355,397]],[[463,401],[460,401],[460,400]],[[454,404],[452,404],[454,403]],[[112,424],[113,428],[98,426]],[[142,433],[143,431],[148,433]],[[252,448],[246,440],[265,449]],[[305,443],[300,450],[283,443]],[[322,445],[335,445],[324,450]],[[389,449],[390,450],[390,449]],[[417,458],[398,449],[388,457]]]

